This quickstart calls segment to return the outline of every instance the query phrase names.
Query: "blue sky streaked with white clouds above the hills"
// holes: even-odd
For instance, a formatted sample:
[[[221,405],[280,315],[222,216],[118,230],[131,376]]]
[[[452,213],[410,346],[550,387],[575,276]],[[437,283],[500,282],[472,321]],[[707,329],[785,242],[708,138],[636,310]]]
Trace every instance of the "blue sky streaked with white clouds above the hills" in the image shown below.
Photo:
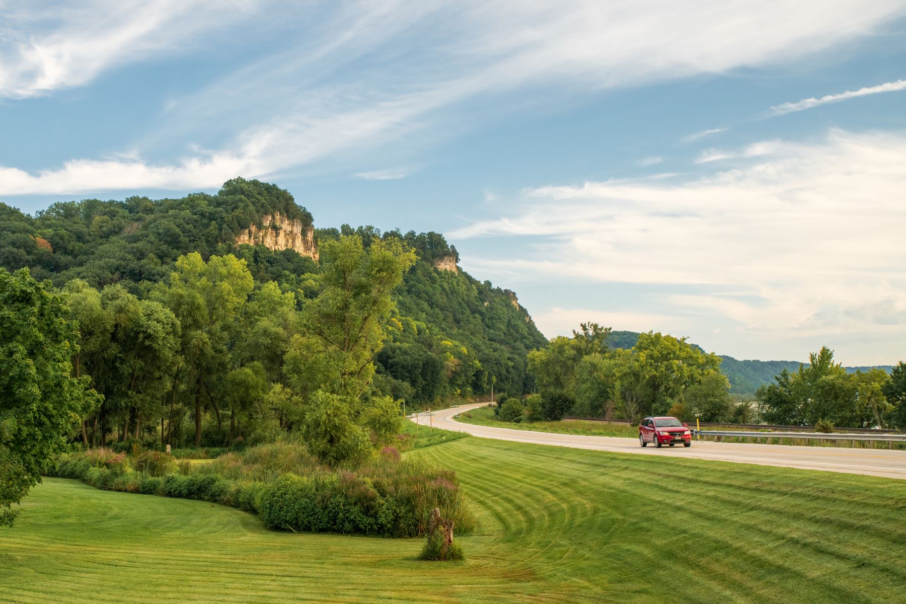
[[[0,0],[0,141],[25,212],[255,177],[548,337],[906,360],[906,0]]]

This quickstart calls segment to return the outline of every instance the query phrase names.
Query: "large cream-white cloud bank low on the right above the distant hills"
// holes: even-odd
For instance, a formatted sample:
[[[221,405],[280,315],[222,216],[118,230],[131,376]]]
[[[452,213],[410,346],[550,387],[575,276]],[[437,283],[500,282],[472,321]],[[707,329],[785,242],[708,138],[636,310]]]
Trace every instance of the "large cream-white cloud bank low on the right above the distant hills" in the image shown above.
[[[744,168],[685,182],[529,189],[510,216],[450,238],[540,237],[527,252],[506,245],[513,254],[487,258],[482,269],[657,285],[667,292],[662,312],[676,321],[731,321],[763,343],[859,332],[900,346],[906,133],[835,130],[820,143],[762,149],[771,157],[751,153]]]

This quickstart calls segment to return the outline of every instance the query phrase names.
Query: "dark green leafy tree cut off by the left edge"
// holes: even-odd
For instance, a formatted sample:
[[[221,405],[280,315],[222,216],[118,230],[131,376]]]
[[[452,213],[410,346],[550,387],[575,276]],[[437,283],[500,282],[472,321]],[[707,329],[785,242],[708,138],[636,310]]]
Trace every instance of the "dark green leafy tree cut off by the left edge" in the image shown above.
[[[63,297],[28,269],[0,268],[0,523],[41,480],[65,437],[99,402],[88,377],[72,375],[78,332]]]

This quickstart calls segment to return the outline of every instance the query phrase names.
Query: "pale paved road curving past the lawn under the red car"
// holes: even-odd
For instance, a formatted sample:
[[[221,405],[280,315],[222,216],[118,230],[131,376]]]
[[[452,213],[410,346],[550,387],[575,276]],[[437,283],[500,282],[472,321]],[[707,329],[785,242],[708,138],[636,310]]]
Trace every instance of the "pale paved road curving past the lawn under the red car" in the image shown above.
[[[676,455],[695,457],[696,459],[715,459],[738,464],[780,465],[798,467],[825,472],[846,472],[885,476],[887,478],[906,479],[906,451],[889,449],[850,449],[836,446],[781,446],[755,445],[742,443],[715,443],[697,441],[689,448],[684,446],[641,447],[635,438],[614,438],[611,436],[574,436],[553,434],[549,432],[530,432],[506,427],[474,426],[458,422],[454,416],[468,409],[481,407],[464,405],[428,414],[421,414],[419,424],[455,432],[467,432],[474,436],[512,440],[519,443],[537,445],[571,446],[577,449],[594,449],[596,451],[615,451],[618,453],[635,453],[638,455]],[[415,421],[415,418],[412,418]]]

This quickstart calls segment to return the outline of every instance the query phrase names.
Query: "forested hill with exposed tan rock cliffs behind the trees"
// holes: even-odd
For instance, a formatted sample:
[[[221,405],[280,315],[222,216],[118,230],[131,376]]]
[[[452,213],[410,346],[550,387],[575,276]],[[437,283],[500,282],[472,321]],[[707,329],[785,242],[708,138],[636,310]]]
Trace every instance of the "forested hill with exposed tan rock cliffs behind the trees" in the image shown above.
[[[72,279],[97,288],[120,283],[142,297],[182,254],[236,254],[256,287],[276,282],[300,304],[316,294],[317,241],[352,233],[366,246],[403,239],[418,261],[395,292],[398,312],[377,359],[377,380],[415,404],[484,393],[492,380],[497,390],[521,393],[529,387],[526,352],[545,344],[516,295],[458,270],[456,249],[442,235],[348,225],[314,230],[312,215],[288,192],[255,180],[235,178],[216,195],[56,203],[35,216],[0,203],[0,233],[0,266],[27,266],[58,286]]]

